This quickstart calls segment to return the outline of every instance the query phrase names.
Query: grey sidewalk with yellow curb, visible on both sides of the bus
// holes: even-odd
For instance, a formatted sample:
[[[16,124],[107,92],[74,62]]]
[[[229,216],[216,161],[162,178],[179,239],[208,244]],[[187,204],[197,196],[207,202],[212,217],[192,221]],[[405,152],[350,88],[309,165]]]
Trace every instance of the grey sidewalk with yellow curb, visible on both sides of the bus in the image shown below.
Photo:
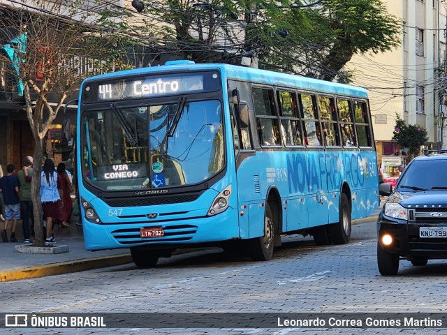
[[[352,224],[375,222],[379,209],[367,218],[353,220]],[[129,248],[103,251],[86,251],[82,226],[76,225],[73,217],[69,228],[54,227],[54,246],[68,246],[68,252],[55,254],[19,253],[15,246],[24,246],[22,221],[17,223],[16,237],[19,242],[4,243],[0,240],[0,282],[16,281],[25,278],[38,278],[55,274],[112,267],[133,262]],[[10,230],[8,231],[8,239]]]

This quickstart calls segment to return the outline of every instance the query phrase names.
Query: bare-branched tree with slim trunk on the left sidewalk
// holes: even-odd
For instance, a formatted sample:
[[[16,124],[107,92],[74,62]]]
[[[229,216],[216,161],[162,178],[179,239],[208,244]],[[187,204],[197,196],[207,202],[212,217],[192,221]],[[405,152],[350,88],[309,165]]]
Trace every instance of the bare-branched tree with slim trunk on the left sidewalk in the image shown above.
[[[93,74],[84,73],[81,62],[108,59],[110,55],[111,45],[101,36],[103,27],[89,24],[91,16],[87,17],[87,11],[79,6],[64,7],[59,1],[43,1],[33,8],[3,8],[1,13],[0,34],[13,42],[6,54],[0,54],[0,60],[8,64],[4,70],[17,80],[17,94],[24,97],[35,143],[34,175],[38,177],[31,182],[31,199],[36,218],[36,246],[44,244],[39,219],[43,138],[66,98],[79,89],[84,77]],[[102,66],[98,68],[101,72],[109,70]]]

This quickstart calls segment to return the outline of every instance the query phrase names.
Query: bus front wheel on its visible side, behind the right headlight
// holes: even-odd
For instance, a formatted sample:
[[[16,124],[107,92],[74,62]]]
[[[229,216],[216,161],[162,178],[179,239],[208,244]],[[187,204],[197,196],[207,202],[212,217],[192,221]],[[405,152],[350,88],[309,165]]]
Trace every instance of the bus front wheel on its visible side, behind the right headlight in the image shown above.
[[[270,204],[265,206],[264,235],[251,239],[249,255],[251,260],[271,260],[274,248],[274,217]]]

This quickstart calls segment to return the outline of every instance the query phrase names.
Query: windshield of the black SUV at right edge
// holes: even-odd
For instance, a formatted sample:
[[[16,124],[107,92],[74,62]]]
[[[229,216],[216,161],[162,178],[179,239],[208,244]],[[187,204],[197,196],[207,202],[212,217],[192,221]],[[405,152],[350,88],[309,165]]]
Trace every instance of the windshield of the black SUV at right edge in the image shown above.
[[[447,159],[413,161],[400,177],[396,191],[436,191],[447,188]]]

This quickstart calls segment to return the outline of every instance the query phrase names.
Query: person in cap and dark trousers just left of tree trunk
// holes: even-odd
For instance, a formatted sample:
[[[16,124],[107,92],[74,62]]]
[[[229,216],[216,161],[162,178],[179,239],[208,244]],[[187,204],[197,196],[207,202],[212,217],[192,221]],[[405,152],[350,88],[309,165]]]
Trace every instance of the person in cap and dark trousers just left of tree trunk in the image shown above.
[[[30,243],[29,238],[34,237],[34,213],[33,202],[31,201],[31,177],[33,175],[33,158],[24,158],[24,166],[17,172],[20,183],[20,211],[22,211],[22,228],[24,243]],[[31,218],[31,234],[29,219]]]

